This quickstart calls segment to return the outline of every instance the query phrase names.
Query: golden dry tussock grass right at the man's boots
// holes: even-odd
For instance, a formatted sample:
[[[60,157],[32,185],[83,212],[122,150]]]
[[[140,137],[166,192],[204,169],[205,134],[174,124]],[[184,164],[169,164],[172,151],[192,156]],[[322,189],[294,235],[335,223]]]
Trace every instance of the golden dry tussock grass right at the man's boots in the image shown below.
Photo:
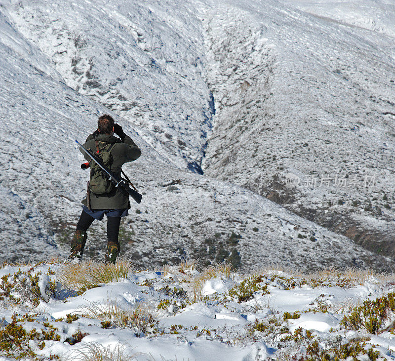
[[[79,264],[64,264],[56,272],[56,276],[67,287],[89,289],[101,283],[126,279],[132,272],[133,264],[129,259],[120,258],[116,264],[88,259]]]

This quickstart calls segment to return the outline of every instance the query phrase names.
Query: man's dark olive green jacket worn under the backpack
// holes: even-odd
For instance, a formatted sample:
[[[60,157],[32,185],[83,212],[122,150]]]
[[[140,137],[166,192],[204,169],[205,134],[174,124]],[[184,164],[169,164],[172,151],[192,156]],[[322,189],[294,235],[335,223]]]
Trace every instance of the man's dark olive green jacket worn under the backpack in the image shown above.
[[[117,143],[111,150],[111,155],[113,157],[113,163],[110,169],[116,173],[120,174],[121,167],[124,163],[128,161],[136,160],[141,156],[141,151],[139,147],[133,142],[129,136],[125,136],[123,142],[120,142],[119,138],[113,135],[98,134],[96,135],[96,140],[104,143]],[[96,153],[96,145],[93,140],[93,134],[90,134],[86,139],[85,144],[83,144],[85,149],[90,149],[93,153]],[[101,144],[102,147],[102,144]],[[83,153],[84,158],[89,161],[90,157]],[[81,202],[83,205],[87,206],[86,198]],[[90,206],[92,209],[129,209],[129,195],[122,191],[120,188],[116,188],[116,191],[108,196],[95,196],[90,195]]]

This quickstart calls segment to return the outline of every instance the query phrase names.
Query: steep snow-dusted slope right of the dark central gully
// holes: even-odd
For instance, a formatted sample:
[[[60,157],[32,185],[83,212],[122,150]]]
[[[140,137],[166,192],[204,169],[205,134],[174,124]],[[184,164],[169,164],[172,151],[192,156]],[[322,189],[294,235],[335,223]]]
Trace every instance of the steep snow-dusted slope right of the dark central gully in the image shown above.
[[[394,39],[278,1],[209,4],[204,173],[393,256]]]

